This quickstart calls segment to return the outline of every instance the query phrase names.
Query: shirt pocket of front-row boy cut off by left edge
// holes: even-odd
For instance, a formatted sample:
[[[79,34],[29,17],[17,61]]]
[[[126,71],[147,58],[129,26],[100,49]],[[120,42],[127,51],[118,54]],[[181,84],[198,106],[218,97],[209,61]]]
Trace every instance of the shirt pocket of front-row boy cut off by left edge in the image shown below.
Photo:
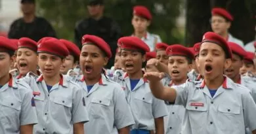
[[[0,120],[3,124],[18,127],[22,103],[16,99],[3,99],[0,102]]]

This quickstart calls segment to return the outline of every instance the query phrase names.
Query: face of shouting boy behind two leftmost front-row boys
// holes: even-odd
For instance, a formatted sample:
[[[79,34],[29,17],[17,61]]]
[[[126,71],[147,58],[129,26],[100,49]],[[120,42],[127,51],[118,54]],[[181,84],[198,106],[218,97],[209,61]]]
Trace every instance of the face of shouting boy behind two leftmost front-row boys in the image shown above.
[[[20,75],[26,75],[30,71],[36,71],[37,54],[28,48],[19,48],[16,56],[17,67]]]

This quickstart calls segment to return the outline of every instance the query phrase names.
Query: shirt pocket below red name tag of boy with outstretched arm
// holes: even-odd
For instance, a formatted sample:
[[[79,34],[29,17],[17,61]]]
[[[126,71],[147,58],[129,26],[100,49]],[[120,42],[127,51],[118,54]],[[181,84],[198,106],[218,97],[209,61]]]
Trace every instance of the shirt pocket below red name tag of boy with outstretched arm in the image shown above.
[[[202,129],[205,124],[207,124],[206,105],[204,105],[203,107],[186,105],[186,110],[188,112],[188,120],[192,129],[198,129],[198,131],[200,131],[200,129]]]

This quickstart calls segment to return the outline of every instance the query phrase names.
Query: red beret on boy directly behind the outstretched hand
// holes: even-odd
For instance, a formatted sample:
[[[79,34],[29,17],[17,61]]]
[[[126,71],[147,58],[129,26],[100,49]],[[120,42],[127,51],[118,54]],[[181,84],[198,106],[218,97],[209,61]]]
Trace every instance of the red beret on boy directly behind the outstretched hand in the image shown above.
[[[148,45],[138,37],[121,37],[118,39],[117,45],[125,50],[143,50],[144,52],[150,52]]]

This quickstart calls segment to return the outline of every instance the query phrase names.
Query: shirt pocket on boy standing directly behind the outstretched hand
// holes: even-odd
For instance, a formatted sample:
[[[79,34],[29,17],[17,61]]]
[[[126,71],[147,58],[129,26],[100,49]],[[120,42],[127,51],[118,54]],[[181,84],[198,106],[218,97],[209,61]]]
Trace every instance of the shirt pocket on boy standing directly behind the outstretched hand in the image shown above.
[[[132,110],[139,117],[145,117],[147,119],[153,118],[152,114],[152,102],[153,96],[150,93],[144,95],[135,95],[135,103],[132,105]]]

